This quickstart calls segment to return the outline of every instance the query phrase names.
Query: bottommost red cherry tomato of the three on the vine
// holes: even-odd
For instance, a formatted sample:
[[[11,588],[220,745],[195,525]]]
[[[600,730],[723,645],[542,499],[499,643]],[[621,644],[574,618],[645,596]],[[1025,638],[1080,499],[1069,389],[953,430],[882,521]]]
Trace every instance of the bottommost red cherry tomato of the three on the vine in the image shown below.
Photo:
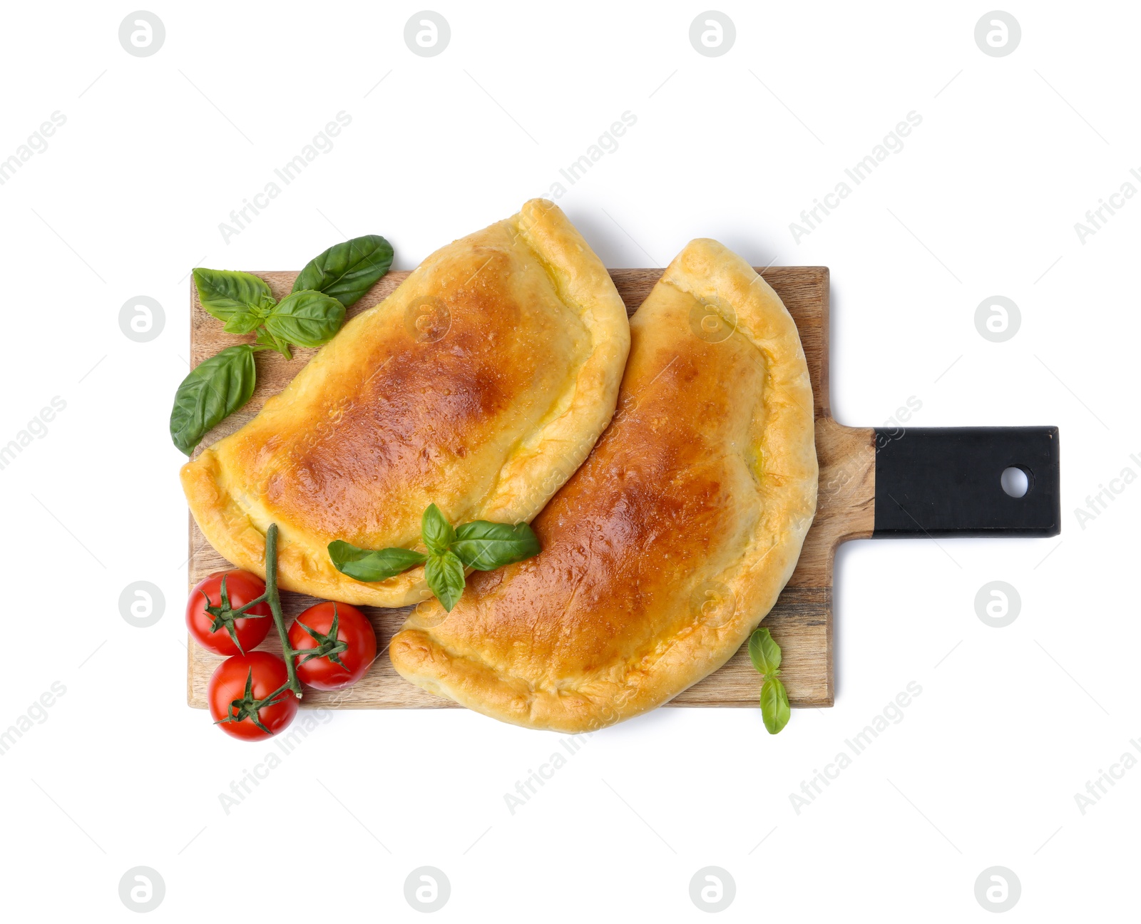
[[[286,689],[273,703],[259,708],[254,706],[283,687],[288,679],[285,662],[268,651],[226,658],[210,678],[207,689],[210,714],[218,728],[235,738],[246,741],[272,738],[289,728],[300,700]],[[220,721],[227,716],[233,721]]]

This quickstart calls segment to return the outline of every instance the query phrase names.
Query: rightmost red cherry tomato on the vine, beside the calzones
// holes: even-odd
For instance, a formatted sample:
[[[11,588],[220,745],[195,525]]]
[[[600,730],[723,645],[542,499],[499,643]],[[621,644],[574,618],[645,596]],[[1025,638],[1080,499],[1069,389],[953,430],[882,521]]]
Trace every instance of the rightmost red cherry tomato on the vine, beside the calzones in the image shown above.
[[[348,603],[325,602],[309,607],[290,626],[289,643],[294,651],[301,653],[297,658],[298,678],[318,690],[339,690],[356,683],[377,658],[377,633],[372,623]],[[304,654],[310,649],[329,654],[319,657]]]

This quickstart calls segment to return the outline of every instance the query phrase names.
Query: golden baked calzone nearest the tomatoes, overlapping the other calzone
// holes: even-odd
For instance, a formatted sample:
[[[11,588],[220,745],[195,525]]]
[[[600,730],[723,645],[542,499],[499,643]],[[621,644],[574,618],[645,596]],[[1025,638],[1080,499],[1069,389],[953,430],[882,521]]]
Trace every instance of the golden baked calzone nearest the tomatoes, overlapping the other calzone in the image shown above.
[[[424,324],[427,321],[427,325]],[[423,569],[362,583],[327,544],[414,546],[424,508],[531,520],[614,412],[625,306],[544,200],[436,251],[348,322],[245,427],[183,467],[203,535],[282,587],[349,603],[422,600]]]

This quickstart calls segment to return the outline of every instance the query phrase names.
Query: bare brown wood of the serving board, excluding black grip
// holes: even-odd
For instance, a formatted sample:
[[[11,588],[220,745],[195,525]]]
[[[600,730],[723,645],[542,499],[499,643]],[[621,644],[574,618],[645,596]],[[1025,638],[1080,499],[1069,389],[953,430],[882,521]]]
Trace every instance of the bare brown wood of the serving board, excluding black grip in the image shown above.
[[[832,564],[836,546],[848,538],[869,536],[875,496],[875,435],[871,429],[841,427],[828,410],[828,270],[827,267],[769,267],[760,271],[780,295],[796,321],[812,378],[816,405],[816,451],[820,464],[820,489],[816,519],[804,540],[796,570],[764,619],[782,649],[780,676],[793,706],[831,706],[834,698],[832,670]],[[275,298],[288,294],[297,273],[258,273]],[[389,273],[361,301],[349,308],[356,315],[383,300],[407,273]],[[610,276],[633,314],[649,294],[661,269],[612,269]],[[220,349],[251,341],[221,329],[199,305],[191,283],[191,362],[197,365]],[[249,421],[266,399],[281,391],[316,352],[294,349],[293,359],[264,351],[257,355],[258,386],[250,403],[205,436],[209,446]],[[205,541],[193,517],[189,520],[189,586],[208,574],[230,565]],[[313,598],[283,592],[286,619],[314,602]],[[377,629],[385,649],[408,610],[362,607]],[[204,708],[207,683],[221,658],[187,641],[187,702]],[[276,633],[266,650],[281,651]],[[758,706],[761,681],[745,647],[699,683],[682,691],[672,706]],[[307,690],[305,706],[346,708],[459,708],[451,699],[434,696],[408,683],[393,668],[386,655],[354,687],[338,692]]]

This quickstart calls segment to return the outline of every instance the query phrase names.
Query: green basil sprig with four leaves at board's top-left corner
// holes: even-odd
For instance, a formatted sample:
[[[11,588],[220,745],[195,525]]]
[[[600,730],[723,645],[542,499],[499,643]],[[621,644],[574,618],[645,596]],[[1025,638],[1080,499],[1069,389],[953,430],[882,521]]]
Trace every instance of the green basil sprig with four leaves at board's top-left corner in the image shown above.
[[[253,354],[276,350],[292,359],[290,346],[319,347],[345,323],[345,308],[357,301],[393,265],[393,248],[377,234],[354,237],[315,257],[280,302],[265,279],[229,269],[194,269],[199,303],[233,334],[253,343],[227,347],[187,375],[175,392],[170,436],[191,455],[202,437],[253,394]],[[408,566],[411,567],[411,566]],[[398,572],[397,572],[398,574]]]

